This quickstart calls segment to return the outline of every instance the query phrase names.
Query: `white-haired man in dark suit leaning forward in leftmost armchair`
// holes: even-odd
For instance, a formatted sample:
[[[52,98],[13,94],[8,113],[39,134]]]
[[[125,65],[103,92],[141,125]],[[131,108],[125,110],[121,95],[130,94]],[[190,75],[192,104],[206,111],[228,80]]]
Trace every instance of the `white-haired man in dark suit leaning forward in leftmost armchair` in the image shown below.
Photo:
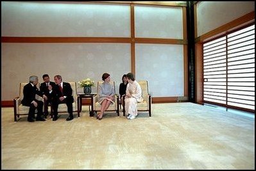
[[[30,83],[24,86],[23,94],[24,97],[21,101],[22,105],[24,106],[30,106],[30,111],[28,113],[28,122],[34,122],[35,118],[35,110],[37,109],[37,118],[36,120],[45,121],[44,118],[42,118],[43,112],[42,108],[44,105],[44,102],[38,101],[35,99],[35,95],[40,95],[45,98],[45,95],[42,95],[41,92],[38,90],[37,85],[38,84],[38,77],[37,76],[30,76]]]

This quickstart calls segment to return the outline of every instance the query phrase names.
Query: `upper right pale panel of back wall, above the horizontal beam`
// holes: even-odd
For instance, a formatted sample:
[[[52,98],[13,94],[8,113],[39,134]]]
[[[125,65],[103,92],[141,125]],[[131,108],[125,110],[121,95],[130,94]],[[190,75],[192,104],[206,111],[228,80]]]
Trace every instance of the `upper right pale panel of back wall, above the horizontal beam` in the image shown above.
[[[135,37],[183,39],[182,8],[135,6]]]

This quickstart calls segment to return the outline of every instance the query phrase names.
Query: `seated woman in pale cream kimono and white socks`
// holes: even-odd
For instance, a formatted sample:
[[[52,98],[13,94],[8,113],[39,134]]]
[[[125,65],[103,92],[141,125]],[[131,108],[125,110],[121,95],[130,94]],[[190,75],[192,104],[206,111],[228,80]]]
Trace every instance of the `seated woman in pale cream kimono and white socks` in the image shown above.
[[[135,78],[131,72],[126,74],[126,76],[128,85],[126,88],[126,96],[124,99],[125,111],[126,113],[128,113],[127,118],[133,119],[138,115],[137,103],[143,101],[142,91],[141,86],[137,81],[135,81]]]

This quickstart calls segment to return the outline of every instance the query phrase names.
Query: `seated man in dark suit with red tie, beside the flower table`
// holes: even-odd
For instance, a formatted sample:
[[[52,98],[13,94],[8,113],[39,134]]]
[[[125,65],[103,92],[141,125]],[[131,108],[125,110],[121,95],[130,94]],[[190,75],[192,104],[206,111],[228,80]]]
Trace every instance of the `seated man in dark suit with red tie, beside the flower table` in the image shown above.
[[[50,93],[53,96],[53,121],[58,119],[58,104],[65,103],[67,105],[67,112],[69,117],[67,121],[73,120],[73,102],[74,98],[72,95],[72,88],[69,83],[62,81],[62,76],[56,75],[54,77],[56,85],[52,87],[52,92]]]

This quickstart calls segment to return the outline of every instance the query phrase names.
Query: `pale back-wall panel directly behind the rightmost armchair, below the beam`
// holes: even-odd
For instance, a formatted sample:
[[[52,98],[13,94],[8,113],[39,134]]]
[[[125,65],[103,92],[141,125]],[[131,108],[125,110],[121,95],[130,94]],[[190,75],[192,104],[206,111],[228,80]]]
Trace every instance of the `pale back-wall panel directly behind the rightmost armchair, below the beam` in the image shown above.
[[[184,95],[183,45],[137,44],[137,80],[148,80],[153,97]]]

